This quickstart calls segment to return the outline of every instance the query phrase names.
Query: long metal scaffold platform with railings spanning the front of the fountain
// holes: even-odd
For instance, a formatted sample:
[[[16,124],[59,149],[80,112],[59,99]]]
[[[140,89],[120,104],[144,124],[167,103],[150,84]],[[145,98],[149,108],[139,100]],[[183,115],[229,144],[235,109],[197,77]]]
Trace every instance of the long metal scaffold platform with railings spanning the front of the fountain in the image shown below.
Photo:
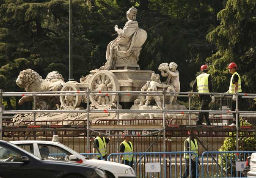
[[[132,140],[138,144],[139,151],[177,151],[182,150],[183,141],[185,137],[188,137],[187,131],[198,131],[197,136],[211,142],[212,145],[209,148],[219,148],[222,145],[221,142],[225,137],[234,137],[234,140],[241,143],[242,140],[239,137],[254,137],[253,133],[256,132],[256,126],[242,125],[242,126],[228,126],[228,121],[231,120],[232,114],[237,116],[240,113],[243,120],[255,121],[255,111],[235,111],[230,110],[192,110],[191,99],[197,98],[195,95],[198,93],[193,92],[125,92],[125,91],[100,91],[98,95],[116,95],[117,98],[124,96],[159,96],[163,98],[167,96],[188,97],[188,109],[187,110],[167,110],[165,108],[165,102],[162,103],[162,110],[90,110],[89,101],[87,100],[87,108],[80,110],[36,110],[36,98],[42,96],[91,96],[95,95],[96,91],[65,91],[65,92],[0,92],[0,101],[3,103],[4,97],[12,96],[32,96],[33,97],[33,110],[3,110],[0,109],[0,133],[1,139],[4,140],[50,140],[52,135],[58,134],[63,142],[67,142],[67,145],[73,144],[75,147],[78,144],[78,149],[82,144],[82,149],[85,152],[90,152],[92,149],[90,135],[96,137],[98,135],[112,136],[114,143],[111,145],[110,150],[114,153],[118,151],[118,145],[124,135],[129,135]],[[231,94],[226,93],[205,93],[215,95],[220,100],[220,106],[223,102],[223,98],[231,99]],[[255,99],[256,94],[237,93],[244,99]],[[119,105],[117,99],[117,106]],[[212,126],[193,125],[192,122],[196,118],[192,118],[191,115],[198,114],[198,112],[209,112]],[[37,120],[37,114],[53,114],[53,113],[84,113],[87,118],[91,113],[114,113],[115,118],[111,120],[98,119],[94,120]],[[162,115],[161,118],[146,118],[146,119],[119,119],[121,113],[154,113]],[[188,118],[172,118],[166,117],[167,114],[186,114]],[[9,115],[13,114],[28,114],[33,115],[33,120],[24,120],[19,122],[20,125],[14,123],[11,120],[3,120]],[[6,116],[8,115],[8,116]],[[10,118],[8,118],[10,119]],[[176,124],[178,121],[182,121],[181,124]],[[179,122],[178,122],[179,123]],[[215,140],[220,138],[218,140]],[[73,140],[73,143],[70,141]],[[165,141],[164,141],[165,140]],[[78,142],[78,143],[77,143]],[[217,146],[216,143],[217,142]],[[86,145],[86,146],[85,146]],[[135,146],[136,148],[136,146]],[[202,148],[203,149],[203,148]],[[208,149],[208,146],[207,148]],[[111,152],[111,151],[110,151]]]

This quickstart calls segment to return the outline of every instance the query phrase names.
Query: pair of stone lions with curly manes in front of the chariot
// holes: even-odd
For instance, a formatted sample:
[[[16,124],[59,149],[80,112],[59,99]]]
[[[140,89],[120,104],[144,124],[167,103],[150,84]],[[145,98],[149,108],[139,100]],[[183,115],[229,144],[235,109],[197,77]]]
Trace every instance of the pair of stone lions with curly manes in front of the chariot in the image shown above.
[[[46,79],[42,79],[36,71],[33,71],[30,68],[19,72],[16,83],[20,88],[24,88],[27,92],[61,91],[62,86],[65,84],[62,75],[57,71],[50,72]],[[32,100],[32,96],[22,96],[19,100],[19,104],[22,105],[23,103]]]

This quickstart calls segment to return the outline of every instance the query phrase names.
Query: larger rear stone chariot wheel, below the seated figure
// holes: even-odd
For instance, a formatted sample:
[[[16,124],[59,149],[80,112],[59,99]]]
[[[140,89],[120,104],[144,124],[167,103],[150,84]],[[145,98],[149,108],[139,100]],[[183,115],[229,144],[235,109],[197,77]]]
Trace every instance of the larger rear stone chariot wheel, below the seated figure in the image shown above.
[[[119,91],[119,83],[115,74],[111,71],[98,71],[90,80],[89,89],[91,91]],[[105,110],[112,103],[116,103],[116,95],[90,95],[90,101],[97,109]]]

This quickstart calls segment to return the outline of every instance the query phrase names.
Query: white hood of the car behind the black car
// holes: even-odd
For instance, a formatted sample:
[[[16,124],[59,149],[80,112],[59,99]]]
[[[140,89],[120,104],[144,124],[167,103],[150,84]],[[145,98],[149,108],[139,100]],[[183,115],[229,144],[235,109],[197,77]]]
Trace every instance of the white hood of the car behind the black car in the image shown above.
[[[125,164],[120,164],[116,162],[108,162],[104,160],[98,160],[98,159],[89,159],[86,160],[85,164],[101,167],[103,170],[111,170],[112,173],[121,173],[124,174],[125,170],[131,168]]]

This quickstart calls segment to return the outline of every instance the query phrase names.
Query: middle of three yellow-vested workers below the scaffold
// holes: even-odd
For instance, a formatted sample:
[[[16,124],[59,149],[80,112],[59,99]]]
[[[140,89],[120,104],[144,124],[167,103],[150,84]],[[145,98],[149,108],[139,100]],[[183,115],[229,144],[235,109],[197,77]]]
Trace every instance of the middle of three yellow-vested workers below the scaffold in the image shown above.
[[[133,146],[131,137],[126,135],[124,136],[124,141],[120,143],[120,153],[133,153]],[[125,154],[120,156],[122,160],[122,164],[126,164],[130,167],[132,167],[134,159],[132,154]]]

